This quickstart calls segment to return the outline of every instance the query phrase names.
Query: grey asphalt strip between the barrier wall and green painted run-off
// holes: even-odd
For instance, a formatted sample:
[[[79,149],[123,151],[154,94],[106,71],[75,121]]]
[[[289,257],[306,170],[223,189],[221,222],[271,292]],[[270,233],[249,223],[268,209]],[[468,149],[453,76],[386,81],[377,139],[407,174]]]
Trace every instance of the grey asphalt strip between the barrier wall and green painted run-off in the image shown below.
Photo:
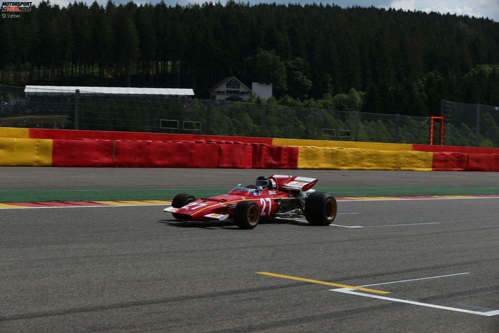
[[[317,187],[499,186],[496,172],[2,167],[0,190],[232,188],[288,173]]]

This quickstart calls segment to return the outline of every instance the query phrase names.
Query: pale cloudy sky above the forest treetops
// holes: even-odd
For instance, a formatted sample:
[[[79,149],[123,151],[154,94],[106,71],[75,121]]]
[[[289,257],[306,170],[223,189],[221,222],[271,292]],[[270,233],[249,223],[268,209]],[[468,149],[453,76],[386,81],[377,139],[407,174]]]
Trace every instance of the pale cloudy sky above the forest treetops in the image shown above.
[[[74,0],[73,0],[74,1]],[[78,0],[83,1],[90,5],[93,0]],[[160,0],[135,0],[137,4],[152,3],[156,4]],[[189,3],[204,3],[206,0],[164,0],[168,5],[187,5]],[[212,0],[217,2],[217,0]],[[221,4],[225,4],[226,0],[219,0]],[[52,4],[59,6],[67,6],[69,0],[51,0]],[[72,1],[71,1],[72,2]],[[115,4],[127,3],[129,0],[114,0]],[[238,2],[236,0],[236,2]],[[403,10],[417,10],[425,12],[439,12],[442,14],[451,13],[457,15],[468,15],[476,17],[487,17],[499,22],[499,0],[243,0],[242,2],[249,2],[251,5],[258,3],[278,3],[278,4],[335,4],[341,7],[361,6],[361,7],[379,7],[379,8],[394,8]],[[97,0],[97,3],[105,5],[107,0]]]

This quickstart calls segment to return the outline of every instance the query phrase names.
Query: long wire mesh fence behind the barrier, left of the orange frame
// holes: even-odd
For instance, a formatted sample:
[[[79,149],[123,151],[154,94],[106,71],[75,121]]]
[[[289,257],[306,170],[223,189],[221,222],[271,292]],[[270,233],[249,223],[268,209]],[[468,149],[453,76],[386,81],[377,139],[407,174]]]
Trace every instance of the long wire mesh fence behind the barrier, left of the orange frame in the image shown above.
[[[428,144],[429,117],[0,86],[3,127]]]

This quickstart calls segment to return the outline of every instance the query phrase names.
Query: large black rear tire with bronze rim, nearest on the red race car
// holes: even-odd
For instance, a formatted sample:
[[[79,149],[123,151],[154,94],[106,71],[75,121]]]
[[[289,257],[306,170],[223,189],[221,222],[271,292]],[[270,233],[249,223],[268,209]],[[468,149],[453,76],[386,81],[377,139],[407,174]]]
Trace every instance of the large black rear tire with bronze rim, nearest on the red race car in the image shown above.
[[[305,201],[305,218],[312,225],[330,225],[337,211],[336,198],[330,193],[314,192]]]

